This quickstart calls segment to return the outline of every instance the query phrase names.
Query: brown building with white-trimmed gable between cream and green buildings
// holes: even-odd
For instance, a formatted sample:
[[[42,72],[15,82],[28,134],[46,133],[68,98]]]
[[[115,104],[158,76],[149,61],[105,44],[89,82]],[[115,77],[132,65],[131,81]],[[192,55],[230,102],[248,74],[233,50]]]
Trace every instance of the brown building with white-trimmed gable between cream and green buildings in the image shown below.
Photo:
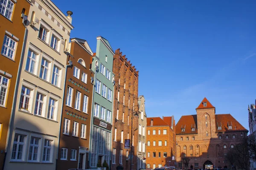
[[[64,105],[61,118],[60,143],[58,147],[58,170],[88,167],[90,119],[93,84],[90,77],[91,56],[86,40],[72,38],[66,69]]]

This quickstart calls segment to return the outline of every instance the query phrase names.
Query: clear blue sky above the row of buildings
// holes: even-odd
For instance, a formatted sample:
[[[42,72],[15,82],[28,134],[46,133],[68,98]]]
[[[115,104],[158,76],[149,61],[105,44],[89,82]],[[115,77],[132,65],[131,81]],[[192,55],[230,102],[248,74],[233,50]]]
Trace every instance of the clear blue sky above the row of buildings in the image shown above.
[[[148,117],[195,114],[204,96],[216,114],[248,128],[256,99],[256,1],[52,0],[73,11],[71,37],[120,48],[139,70]]]

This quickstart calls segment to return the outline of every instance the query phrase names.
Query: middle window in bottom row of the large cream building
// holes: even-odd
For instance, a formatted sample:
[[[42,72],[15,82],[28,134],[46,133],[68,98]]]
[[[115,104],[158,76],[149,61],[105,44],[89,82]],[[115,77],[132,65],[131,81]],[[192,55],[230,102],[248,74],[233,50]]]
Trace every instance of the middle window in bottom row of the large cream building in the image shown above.
[[[40,152],[39,148],[39,139],[37,137],[31,136],[30,145],[29,145],[29,161],[38,161],[39,156],[38,152]]]

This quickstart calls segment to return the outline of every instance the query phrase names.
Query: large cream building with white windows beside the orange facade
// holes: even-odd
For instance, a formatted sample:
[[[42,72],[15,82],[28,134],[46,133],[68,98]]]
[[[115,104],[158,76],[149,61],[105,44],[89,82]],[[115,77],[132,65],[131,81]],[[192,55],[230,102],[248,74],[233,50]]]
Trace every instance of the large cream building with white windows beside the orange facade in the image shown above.
[[[31,0],[27,14],[5,170],[55,170],[72,12],[65,16],[50,0]]]

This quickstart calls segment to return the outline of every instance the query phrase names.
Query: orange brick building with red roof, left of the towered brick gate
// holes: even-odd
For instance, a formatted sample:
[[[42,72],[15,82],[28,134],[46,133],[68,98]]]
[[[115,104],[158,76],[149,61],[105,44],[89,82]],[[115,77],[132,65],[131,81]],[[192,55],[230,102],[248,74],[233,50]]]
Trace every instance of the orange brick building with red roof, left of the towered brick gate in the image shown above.
[[[147,168],[175,166],[174,116],[147,118]]]

